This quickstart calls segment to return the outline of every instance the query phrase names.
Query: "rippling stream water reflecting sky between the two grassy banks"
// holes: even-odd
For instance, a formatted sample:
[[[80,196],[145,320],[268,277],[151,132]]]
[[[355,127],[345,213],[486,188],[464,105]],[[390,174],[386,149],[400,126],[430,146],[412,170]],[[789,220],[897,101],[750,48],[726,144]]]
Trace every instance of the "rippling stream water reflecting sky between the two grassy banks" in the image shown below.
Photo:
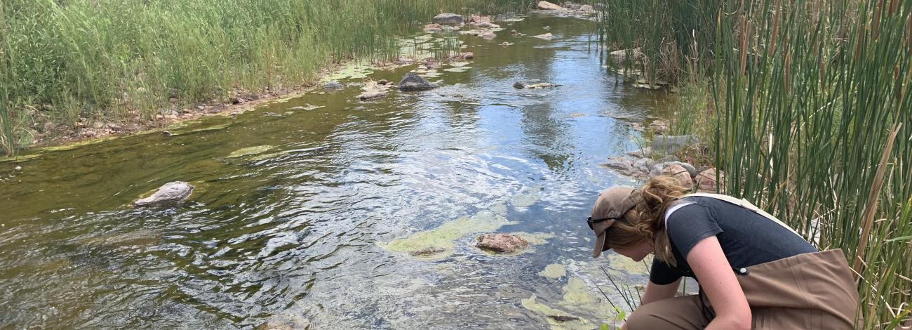
[[[598,266],[643,277],[591,260],[582,222],[597,191],[635,183],[598,164],[634,148],[627,124],[663,98],[615,87],[590,21],[503,25],[530,36],[553,26],[555,38],[459,36],[475,58],[432,79],[442,88],[370,102],[357,86],[321,90],[19,163],[0,179],[0,327],[606,322],[614,312],[596,285],[620,299]],[[519,79],[562,86],[517,90]],[[197,187],[180,207],[130,207],[172,180]],[[479,217],[490,226],[459,222]],[[440,228],[440,258],[390,248]],[[475,249],[491,231],[540,242],[509,257]],[[580,320],[555,323],[545,308]]]

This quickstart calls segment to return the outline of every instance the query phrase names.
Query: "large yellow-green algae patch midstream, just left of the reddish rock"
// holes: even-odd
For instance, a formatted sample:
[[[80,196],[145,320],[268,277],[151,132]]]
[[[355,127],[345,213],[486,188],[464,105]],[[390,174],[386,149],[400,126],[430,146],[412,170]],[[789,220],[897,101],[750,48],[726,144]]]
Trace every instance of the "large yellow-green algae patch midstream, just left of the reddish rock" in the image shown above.
[[[441,248],[444,251],[427,256],[415,256],[419,259],[442,259],[453,253],[456,240],[474,232],[494,232],[508,222],[502,215],[492,211],[480,211],[471,217],[462,217],[447,222],[440,227],[425,232],[415,232],[392,242],[378,242],[378,246],[391,252],[414,253],[428,248]]]

